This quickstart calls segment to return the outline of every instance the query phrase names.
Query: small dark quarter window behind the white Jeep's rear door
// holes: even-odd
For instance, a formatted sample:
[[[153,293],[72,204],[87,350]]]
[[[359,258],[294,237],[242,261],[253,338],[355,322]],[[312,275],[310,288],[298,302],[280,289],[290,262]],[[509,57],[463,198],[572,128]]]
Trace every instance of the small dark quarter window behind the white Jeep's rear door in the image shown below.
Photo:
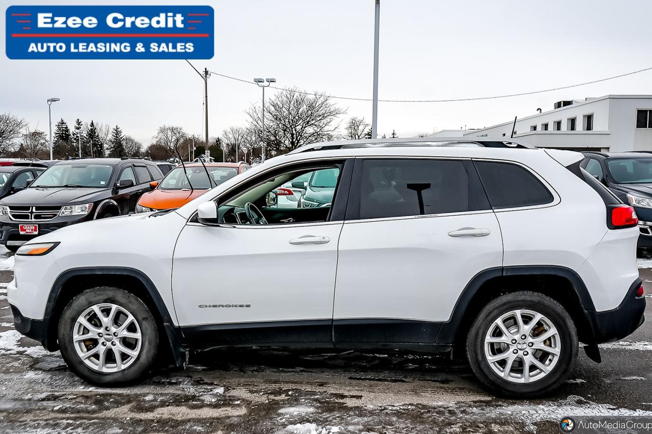
[[[521,166],[478,161],[475,167],[494,209],[532,207],[553,200],[541,181]]]

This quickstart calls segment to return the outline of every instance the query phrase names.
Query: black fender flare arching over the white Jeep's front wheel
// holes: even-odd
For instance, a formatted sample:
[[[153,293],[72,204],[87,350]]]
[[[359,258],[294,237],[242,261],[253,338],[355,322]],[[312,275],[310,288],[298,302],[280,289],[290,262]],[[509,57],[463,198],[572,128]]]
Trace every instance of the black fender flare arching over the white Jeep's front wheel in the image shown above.
[[[147,277],[147,275],[145,275],[145,273],[141,272],[140,270],[136,270],[136,268],[81,267],[81,268],[71,268],[70,270],[66,270],[61,274],[59,274],[54,284],[52,285],[52,290],[50,291],[50,295],[48,295],[48,301],[46,302],[45,313],[43,317],[45,329],[50,330],[49,323],[50,323],[50,319],[52,319],[52,315],[54,313],[54,309],[57,304],[57,299],[61,294],[61,290],[63,289],[64,283],[67,282],[68,279],[74,276],[86,276],[86,275],[97,276],[102,274],[131,276],[137,278],[138,280],[140,280],[141,283],[143,283],[143,286],[145,287],[145,289],[147,289],[147,293],[149,293],[149,296],[153,300],[156,309],[158,310],[158,313],[160,314],[160,317],[163,321],[163,327],[165,328],[168,341],[170,341],[170,349],[173,354],[175,363],[177,364],[177,366],[184,366],[186,364],[186,360],[187,360],[186,357],[188,351],[185,345],[183,344],[184,340],[181,334],[181,330],[179,326],[174,325],[172,321],[172,317],[170,316],[170,311],[168,311],[168,307],[163,301],[163,298],[160,296],[160,293],[158,293],[158,290],[156,289],[154,283],[149,279],[149,277]],[[56,349],[57,347],[56,338],[48,338],[44,346],[46,347],[46,349]]]

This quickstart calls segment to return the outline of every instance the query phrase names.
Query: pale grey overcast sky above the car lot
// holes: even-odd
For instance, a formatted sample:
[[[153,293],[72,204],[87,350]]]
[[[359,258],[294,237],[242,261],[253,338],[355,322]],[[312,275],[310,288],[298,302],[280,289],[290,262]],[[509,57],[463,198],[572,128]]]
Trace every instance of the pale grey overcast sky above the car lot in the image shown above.
[[[5,46],[4,10],[0,38]],[[54,3],[54,2],[52,2]],[[111,1],[57,4],[110,4]],[[370,98],[374,0],[220,0],[116,2],[215,8],[215,57],[198,68],[279,86]],[[381,0],[379,98],[443,99],[548,89],[652,66],[649,17],[641,1]],[[0,112],[47,130],[77,117],[119,124],[149,144],[162,124],[202,134],[203,81],[184,61],[0,60]],[[413,136],[445,128],[481,128],[552,109],[557,100],[604,94],[652,94],[652,72],[566,91],[497,100],[379,104],[378,132]],[[271,96],[274,91],[267,93]],[[244,125],[259,104],[255,85],[209,80],[210,135]],[[337,100],[350,116],[371,119],[371,102]]]

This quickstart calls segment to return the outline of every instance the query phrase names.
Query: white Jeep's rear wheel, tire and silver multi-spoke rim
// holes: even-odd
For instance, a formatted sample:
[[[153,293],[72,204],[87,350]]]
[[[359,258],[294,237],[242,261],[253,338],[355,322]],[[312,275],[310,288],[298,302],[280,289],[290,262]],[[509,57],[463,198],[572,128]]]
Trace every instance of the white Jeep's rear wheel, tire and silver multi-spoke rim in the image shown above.
[[[552,392],[571,374],[578,336],[561,304],[520,291],[498,297],[480,311],[466,350],[484,386],[500,396],[533,398]]]

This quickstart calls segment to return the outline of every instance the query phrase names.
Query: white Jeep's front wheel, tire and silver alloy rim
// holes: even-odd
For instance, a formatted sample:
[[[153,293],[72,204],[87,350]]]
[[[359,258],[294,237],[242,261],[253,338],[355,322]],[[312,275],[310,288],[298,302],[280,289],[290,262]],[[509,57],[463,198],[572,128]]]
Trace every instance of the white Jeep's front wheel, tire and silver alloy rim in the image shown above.
[[[98,386],[140,381],[158,349],[158,327],[135,295],[96,287],[73,298],[61,314],[61,355],[79,377]]]

